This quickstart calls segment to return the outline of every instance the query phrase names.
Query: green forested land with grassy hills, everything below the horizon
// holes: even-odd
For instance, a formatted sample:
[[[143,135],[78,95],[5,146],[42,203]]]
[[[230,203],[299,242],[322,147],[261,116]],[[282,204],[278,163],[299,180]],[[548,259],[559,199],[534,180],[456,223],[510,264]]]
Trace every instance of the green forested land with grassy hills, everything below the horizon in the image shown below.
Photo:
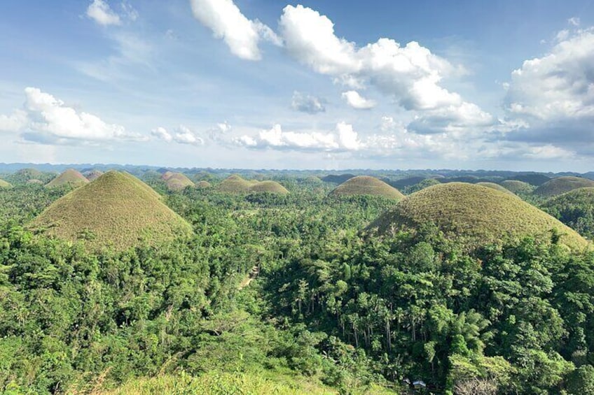
[[[0,173],[0,393],[594,394],[587,178],[128,170]]]

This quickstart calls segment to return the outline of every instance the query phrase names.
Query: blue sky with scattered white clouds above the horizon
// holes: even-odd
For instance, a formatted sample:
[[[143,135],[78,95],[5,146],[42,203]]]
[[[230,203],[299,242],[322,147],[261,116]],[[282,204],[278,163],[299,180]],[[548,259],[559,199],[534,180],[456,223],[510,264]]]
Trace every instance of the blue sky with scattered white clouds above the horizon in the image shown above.
[[[3,0],[0,162],[592,171],[593,1]]]

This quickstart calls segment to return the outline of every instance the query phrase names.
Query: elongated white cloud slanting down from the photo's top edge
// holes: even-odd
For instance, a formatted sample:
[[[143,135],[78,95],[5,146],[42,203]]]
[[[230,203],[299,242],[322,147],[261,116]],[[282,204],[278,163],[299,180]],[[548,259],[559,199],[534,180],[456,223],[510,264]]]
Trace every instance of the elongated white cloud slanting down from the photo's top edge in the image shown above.
[[[191,0],[194,17],[222,38],[229,50],[242,59],[259,60],[261,40],[282,45],[270,27],[258,20],[249,20],[232,0]]]

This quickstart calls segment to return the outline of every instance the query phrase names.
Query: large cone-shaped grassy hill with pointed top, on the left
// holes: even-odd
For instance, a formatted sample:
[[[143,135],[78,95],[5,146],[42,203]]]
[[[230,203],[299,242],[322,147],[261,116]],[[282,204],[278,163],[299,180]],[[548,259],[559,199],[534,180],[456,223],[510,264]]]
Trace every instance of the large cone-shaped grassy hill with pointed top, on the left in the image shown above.
[[[151,187],[117,171],[62,196],[30,227],[58,238],[87,240],[92,250],[108,245],[125,250],[141,240],[158,244],[191,233]]]

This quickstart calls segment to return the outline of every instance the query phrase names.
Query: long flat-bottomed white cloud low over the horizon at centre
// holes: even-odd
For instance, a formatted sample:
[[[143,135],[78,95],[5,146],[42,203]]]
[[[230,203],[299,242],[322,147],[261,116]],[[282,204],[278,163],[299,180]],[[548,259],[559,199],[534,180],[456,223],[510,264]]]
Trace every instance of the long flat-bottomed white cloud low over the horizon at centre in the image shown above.
[[[233,140],[237,145],[247,148],[273,148],[277,150],[305,151],[348,151],[358,150],[358,134],[352,125],[340,122],[336,130],[321,131],[283,131],[280,124],[272,129],[260,131],[257,136],[240,136]]]

